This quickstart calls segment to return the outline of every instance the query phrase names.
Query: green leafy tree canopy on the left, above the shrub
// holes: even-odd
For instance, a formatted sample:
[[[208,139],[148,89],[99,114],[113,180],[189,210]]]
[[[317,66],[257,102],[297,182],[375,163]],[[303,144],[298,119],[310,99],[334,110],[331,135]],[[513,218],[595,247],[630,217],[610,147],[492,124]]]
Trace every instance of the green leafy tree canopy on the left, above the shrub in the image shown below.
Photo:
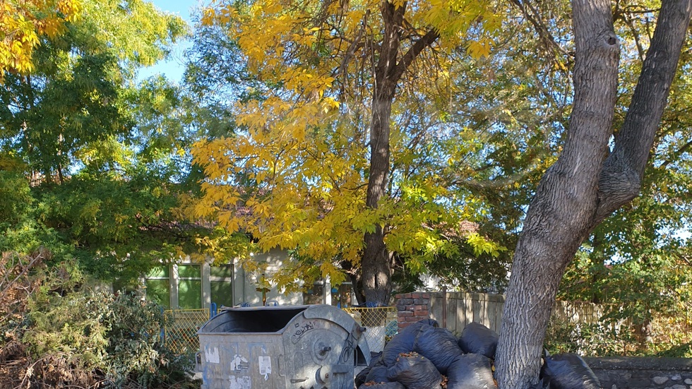
[[[196,184],[181,91],[136,80],[187,27],[145,1],[79,4],[59,35],[37,35],[33,67],[4,77],[0,250],[47,246],[126,283],[162,259],[203,255],[214,236],[184,216]]]

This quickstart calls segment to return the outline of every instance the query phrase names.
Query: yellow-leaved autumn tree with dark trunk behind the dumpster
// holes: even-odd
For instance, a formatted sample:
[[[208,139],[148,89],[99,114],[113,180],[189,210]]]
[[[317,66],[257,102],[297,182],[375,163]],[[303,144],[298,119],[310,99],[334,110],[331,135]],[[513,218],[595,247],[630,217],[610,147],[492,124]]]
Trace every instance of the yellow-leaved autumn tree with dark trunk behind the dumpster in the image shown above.
[[[206,10],[203,23],[229,31],[260,86],[237,105],[245,131],[194,151],[208,176],[199,214],[246,230],[262,249],[294,250],[304,261],[273,275],[281,285],[297,269],[335,283],[344,269],[362,270],[365,299],[388,304],[395,251],[420,270],[454,250],[440,225],[476,217],[439,176],[414,166],[448,152],[426,136],[442,125],[424,92],[447,77],[434,66],[446,56],[432,48],[487,54],[484,32],[499,27],[492,6],[259,1]],[[436,77],[417,77],[422,69]]]

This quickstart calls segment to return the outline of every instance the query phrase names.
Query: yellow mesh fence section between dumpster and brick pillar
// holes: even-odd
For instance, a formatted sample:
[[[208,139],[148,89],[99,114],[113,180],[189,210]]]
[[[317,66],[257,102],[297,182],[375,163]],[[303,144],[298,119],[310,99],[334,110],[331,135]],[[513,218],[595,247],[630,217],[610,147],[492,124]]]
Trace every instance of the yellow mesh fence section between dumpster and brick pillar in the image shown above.
[[[378,306],[376,308],[344,308],[357,323],[367,328],[365,338],[371,352],[381,352],[384,345],[398,330],[397,310],[395,306]]]

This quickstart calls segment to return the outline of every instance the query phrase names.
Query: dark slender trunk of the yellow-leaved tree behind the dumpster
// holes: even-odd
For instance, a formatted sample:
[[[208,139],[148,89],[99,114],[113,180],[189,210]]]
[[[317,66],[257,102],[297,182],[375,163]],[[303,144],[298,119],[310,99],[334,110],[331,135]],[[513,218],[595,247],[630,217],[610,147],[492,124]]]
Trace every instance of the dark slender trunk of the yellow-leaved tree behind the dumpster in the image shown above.
[[[429,47],[437,38],[437,32],[430,30],[417,40],[406,54],[400,56],[400,39],[406,3],[395,6],[389,1],[380,4],[384,33],[380,45],[377,64],[374,69],[374,94],[372,100],[372,117],[370,123],[370,169],[365,205],[376,209],[381,198],[387,192],[389,184],[390,156],[389,123],[392,114],[392,102],[397,83],[404,71],[417,56]],[[374,232],[364,234],[364,251],[362,256],[362,282],[366,301],[386,305],[392,292],[391,265],[389,251],[384,243],[384,230],[376,225]]]

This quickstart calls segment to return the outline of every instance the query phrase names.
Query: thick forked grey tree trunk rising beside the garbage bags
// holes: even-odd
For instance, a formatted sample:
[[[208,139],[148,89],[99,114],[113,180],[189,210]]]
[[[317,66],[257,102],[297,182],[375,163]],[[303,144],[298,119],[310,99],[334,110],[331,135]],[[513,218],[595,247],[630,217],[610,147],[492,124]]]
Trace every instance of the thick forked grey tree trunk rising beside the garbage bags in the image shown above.
[[[568,136],[542,178],[515,250],[497,349],[500,389],[537,382],[566,266],[587,235],[636,197],[690,22],[692,0],[664,0],[612,152],[619,48],[611,2],[573,0],[575,96]]]

